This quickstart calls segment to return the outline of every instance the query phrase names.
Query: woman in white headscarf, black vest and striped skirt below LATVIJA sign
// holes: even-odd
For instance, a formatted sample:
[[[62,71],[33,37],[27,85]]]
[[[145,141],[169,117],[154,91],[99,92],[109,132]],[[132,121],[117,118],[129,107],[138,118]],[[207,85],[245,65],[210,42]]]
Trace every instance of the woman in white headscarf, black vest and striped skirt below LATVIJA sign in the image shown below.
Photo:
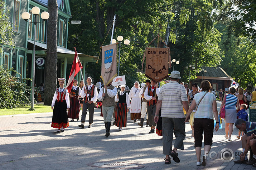
[[[131,108],[130,98],[125,91],[125,85],[121,85],[121,91],[116,94],[115,102],[117,102],[115,124],[119,128],[119,131],[122,131],[123,127],[126,128],[127,112],[129,112],[129,108]]]

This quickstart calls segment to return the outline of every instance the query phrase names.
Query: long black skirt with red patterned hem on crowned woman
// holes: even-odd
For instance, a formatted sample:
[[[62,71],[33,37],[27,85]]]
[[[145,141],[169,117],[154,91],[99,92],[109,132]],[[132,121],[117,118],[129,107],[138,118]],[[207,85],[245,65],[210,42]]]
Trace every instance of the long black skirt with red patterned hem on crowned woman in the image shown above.
[[[69,125],[68,113],[67,113],[67,103],[66,100],[63,102],[57,101],[54,104],[53,115],[52,115],[52,125],[51,127],[61,129],[67,128]]]

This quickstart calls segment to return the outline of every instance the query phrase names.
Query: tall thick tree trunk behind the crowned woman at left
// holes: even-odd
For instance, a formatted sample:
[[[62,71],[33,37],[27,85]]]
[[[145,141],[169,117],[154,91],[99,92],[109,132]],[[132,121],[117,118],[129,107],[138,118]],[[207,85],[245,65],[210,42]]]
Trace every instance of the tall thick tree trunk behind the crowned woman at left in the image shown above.
[[[57,87],[57,0],[48,0],[47,20],[47,58],[45,63],[45,93],[44,105],[51,105],[54,92]]]

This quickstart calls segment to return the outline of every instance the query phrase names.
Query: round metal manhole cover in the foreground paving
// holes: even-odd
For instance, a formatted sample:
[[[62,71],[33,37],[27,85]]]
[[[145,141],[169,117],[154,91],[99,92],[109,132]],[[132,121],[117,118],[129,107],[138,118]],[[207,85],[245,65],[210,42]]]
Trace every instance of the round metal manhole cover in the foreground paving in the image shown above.
[[[130,164],[124,162],[97,162],[89,163],[88,166],[97,167],[97,168],[113,168],[113,169],[140,169],[144,168],[144,165],[139,164]]]

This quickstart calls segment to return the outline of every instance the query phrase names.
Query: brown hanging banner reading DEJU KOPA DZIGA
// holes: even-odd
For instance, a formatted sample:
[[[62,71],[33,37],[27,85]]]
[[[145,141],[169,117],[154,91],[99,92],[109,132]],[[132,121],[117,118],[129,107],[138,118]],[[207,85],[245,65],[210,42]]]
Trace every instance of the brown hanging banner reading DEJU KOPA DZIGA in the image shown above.
[[[169,48],[146,47],[145,76],[152,81],[160,82],[168,76]]]

